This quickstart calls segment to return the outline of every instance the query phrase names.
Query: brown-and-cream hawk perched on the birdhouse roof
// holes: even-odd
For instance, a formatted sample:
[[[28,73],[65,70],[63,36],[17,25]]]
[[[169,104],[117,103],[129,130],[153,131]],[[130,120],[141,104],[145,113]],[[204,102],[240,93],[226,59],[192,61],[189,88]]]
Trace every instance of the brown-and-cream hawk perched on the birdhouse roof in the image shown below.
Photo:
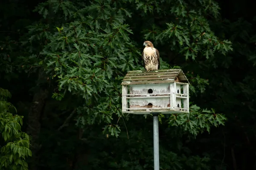
[[[154,71],[160,68],[159,52],[150,41],[143,43],[145,46],[142,52],[142,60],[146,71]]]

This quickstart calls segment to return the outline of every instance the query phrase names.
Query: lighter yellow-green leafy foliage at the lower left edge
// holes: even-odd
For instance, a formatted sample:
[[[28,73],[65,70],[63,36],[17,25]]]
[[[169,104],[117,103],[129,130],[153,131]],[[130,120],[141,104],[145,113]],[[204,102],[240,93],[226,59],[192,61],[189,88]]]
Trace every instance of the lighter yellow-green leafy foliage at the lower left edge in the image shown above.
[[[23,116],[12,114],[16,108],[7,102],[10,97],[9,91],[0,88],[0,132],[3,137],[3,141],[0,140],[0,167],[1,170],[27,170],[26,157],[32,156],[29,136],[21,132]]]

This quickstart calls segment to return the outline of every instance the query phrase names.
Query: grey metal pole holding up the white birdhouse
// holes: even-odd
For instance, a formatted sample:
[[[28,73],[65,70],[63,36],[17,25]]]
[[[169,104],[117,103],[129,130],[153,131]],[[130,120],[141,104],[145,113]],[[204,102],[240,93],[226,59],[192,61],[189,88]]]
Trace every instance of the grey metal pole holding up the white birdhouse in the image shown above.
[[[153,113],[154,170],[159,170],[158,113]]]

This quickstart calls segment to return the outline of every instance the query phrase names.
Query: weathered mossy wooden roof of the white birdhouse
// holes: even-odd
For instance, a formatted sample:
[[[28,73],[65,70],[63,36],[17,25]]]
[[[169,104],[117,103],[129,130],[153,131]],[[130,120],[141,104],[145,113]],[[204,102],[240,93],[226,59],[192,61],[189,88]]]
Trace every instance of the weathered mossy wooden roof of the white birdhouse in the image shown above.
[[[164,69],[156,71],[128,71],[121,85],[159,84],[180,82],[189,83],[181,69]]]

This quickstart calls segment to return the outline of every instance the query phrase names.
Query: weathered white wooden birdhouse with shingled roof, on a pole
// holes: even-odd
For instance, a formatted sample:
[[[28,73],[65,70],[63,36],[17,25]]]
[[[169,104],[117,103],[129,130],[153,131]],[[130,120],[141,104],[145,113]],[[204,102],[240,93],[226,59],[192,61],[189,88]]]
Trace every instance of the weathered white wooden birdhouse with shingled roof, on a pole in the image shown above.
[[[121,85],[122,113],[189,113],[189,81],[181,69],[129,71]]]

